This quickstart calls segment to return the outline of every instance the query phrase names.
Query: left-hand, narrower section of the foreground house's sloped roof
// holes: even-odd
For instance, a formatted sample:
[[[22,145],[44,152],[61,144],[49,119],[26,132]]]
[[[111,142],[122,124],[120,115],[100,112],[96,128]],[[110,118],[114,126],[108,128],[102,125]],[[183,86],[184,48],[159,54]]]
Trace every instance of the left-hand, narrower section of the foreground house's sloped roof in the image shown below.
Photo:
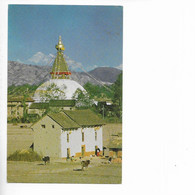
[[[59,113],[49,113],[48,116],[52,118],[56,123],[58,123],[64,129],[77,129],[80,126],[66,116],[63,112]]]

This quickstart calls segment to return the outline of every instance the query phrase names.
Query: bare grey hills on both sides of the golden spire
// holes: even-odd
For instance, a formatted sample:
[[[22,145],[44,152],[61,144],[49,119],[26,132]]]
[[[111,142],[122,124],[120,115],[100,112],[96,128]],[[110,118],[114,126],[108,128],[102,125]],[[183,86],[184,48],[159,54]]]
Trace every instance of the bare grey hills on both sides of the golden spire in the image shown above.
[[[51,68],[51,66],[27,65],[20,62],[8,61],[8,86],[38,85],[48,81],[51,78],[49,74]],[[99,67],[89,72],[96,80],[108,85],[114,83],[120,73],[121,70],[111,67]],[[99,84],[99,82],[84,72],[72,71],[71,79],[81,85],[87,82]]]

